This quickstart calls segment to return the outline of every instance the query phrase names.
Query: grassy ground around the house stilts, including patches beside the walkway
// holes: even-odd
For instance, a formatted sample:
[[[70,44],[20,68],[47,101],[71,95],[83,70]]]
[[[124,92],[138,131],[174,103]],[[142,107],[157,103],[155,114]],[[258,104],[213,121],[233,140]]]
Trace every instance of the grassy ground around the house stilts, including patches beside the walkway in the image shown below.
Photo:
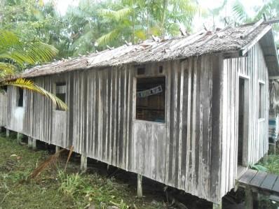
[[[106,164],[93,160],[88,161],[88,172],[82,174],[78,154],[72,155],[66,172],[67,153],[64,153],[38,177],[29,178],[32,171],[53,152],[54,147],[46,144],[39,144],[34,151],[25,143],[18,144],[15,136],[6,138],[0,134],[0,209],[212,208],[207,201],[178,189],[168,187],[165,190],[165,185],[151,180],[147,182],[147,179],[144,180],[144,198],[138,199],[135,174],[117,168],[109,168],[108,171]],[[279,155],[271,154],[267,161],[259,164],[268,168],[268,172],[279,175]],[[236,205],[229,203],[241,203],[243,197],[241,191],[231,192],[224,197],[223,207],[233,208]],[[264,208],[277,208],[277,204],[267,199],[261,203]]]

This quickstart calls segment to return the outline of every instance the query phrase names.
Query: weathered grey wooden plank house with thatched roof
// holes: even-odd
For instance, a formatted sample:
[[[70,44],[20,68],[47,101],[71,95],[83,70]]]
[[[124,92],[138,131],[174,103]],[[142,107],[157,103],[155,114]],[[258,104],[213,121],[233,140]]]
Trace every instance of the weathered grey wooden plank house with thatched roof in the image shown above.
[[[69,110],[8,87],[1,125],[219,204],[268,152],[276,75],[268,22],[144,41],[25,71]]]

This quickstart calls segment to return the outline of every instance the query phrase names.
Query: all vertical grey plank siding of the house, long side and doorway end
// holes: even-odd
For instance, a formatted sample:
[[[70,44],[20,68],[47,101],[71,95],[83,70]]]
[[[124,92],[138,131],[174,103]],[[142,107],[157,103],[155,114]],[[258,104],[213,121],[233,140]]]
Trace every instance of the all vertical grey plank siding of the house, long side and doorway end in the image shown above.
[[[35,78],[50,92],[55,82],[66,82],[69,110],[57,111],[48,99],[25,91],[22,132],[61,147],[74,145],[75,152],[218,203],[236,178],[238,73],[252,80],[249,161],[268,148],[267,96],[264,122],[253,115],[258,78],[268,92],[262,56],[257,44],[248,57],[224,62],[222,55],[203,55],[147,64],[150,76],[163,66],[165,123],[135,120],[134,66]],[[18,131],[14,106],[15,89],[9,87],[7,127]]]

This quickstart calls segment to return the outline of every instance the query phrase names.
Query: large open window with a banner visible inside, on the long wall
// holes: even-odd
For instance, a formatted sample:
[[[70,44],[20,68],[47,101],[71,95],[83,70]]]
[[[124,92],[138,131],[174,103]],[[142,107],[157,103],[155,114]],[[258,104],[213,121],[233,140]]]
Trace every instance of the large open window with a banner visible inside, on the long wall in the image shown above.
[[[137,78],[136,119],[165,122],[165,77]]]

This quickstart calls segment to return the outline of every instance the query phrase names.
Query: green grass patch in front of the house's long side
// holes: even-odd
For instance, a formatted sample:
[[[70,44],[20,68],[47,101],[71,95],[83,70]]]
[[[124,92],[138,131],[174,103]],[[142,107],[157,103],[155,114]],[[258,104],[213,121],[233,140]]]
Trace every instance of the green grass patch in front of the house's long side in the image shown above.
[[[64,161],[47,168],[36,180],[30,173],[49,157],[46,151],[32,151],[15,138],[0,136],[0,208],[165,208],[163,201],[137,199],[134,187],[98,173],[79,174],[74,162],[69,171]],[[61,164],[61,166],[60,166]]]

